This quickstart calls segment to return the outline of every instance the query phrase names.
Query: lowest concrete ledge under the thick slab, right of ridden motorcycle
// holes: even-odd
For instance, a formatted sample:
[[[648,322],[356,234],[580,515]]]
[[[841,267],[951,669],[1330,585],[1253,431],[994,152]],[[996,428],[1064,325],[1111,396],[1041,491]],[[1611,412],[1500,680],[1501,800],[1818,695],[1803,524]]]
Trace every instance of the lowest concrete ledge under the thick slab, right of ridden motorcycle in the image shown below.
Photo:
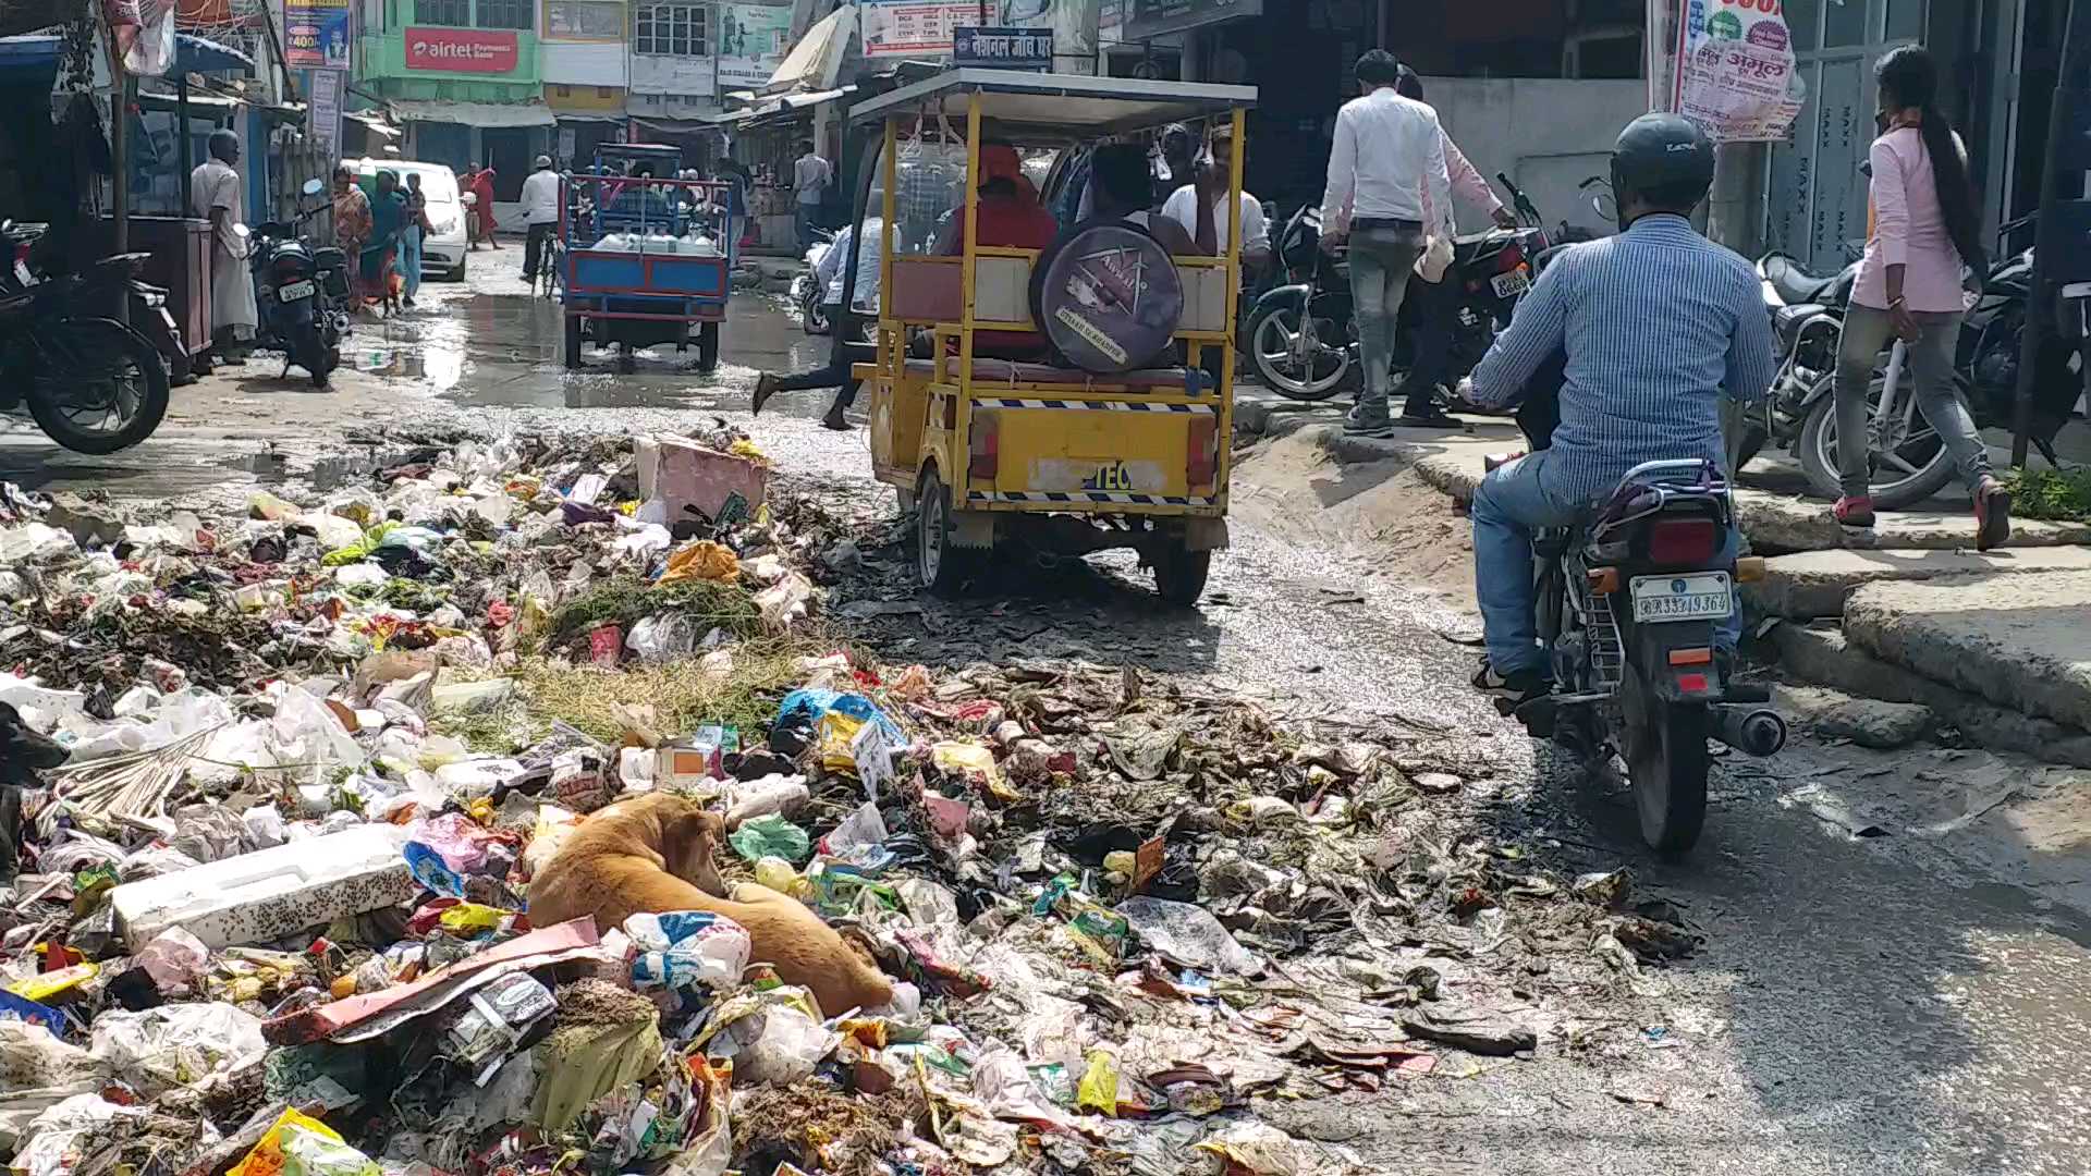
[[[1890,665],[1834,628],[1782,624],[1771,632],[1771,640],[1779,649],[1782,663],[1807,682],[1890,703],[1920,703],[1982,747],[2091,768],[2091,732],[2081,726],[2005,709],[1903,665]]]

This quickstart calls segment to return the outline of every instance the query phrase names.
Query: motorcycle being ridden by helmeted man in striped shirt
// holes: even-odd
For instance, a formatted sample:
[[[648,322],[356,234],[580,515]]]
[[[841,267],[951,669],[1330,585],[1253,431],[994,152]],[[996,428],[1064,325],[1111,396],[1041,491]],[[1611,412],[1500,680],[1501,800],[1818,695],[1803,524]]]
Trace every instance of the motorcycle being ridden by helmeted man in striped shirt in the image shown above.
[[[1533,381],[1518,427],[1533,450],[1552,444],[1560,362]],[[1489,469],[1512,460],[1487,458]],[[1748,755],[1786,745],[1769,691],[1733,682],[1713,653],[1715,624],[1733,615],[1738,580],[1763,561],[1723,559],[1733,502],[1704,458],[1644,462],[1595,511],[1535,536],[1537,634],[1554,693],[1512,709],[1526,730],[1570,753],[1627,766],[1641,839],[1690,850],[1706,824],[1706,741]]]

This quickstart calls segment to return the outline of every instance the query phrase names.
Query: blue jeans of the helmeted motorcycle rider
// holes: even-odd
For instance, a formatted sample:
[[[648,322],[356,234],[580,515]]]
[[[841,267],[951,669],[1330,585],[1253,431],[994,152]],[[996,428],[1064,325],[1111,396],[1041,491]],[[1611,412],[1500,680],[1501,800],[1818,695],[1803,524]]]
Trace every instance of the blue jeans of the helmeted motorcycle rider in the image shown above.
[[[1480,603],[1480,630],[1489,642],[1489,665],[1497,674],[1552,674],[1547,651],[1539,647],[1533,624],[1537,586],[1533,582],[1533,534],[1566,527],[1587,506],[1556,496],[1545,488],[1549,450],[1526,454],[1480,479],[1474,488],[1474,596]],[[1733,563],[1742,550],[1742,534],[1727,529],[1719,559]],[[1742,640],[1742,607],[1713,630],[1713,644],[1736,651]]]

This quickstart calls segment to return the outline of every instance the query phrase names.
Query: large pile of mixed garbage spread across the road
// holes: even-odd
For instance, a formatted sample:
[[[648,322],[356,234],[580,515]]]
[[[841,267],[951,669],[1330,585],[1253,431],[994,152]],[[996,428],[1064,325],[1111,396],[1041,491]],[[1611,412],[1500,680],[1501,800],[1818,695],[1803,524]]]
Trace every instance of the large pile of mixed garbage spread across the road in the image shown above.
[[[0,511],[0,701],[71,751],[4,781],[21,1176],[1340,1172],[1265,1109],[1629,1048],[1583,1002],[1698,942],[1476,835],[1487,766],[1418,737],[847,649],[818,511],[723,431],[462,444],[247,519]],[[703,910],[531,925],[648,791],[893,1002],[822,1009]]]

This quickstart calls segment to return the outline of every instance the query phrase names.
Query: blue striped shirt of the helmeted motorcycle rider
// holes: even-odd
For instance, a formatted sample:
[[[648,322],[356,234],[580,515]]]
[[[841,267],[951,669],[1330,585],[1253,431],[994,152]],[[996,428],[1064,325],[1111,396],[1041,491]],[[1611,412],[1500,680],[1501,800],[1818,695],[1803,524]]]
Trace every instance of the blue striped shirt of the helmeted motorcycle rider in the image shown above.
[[[1759,400],[1779,370],[1771,316],[1738,253],[1652,213],[1562,249],[1474,368],[1476,404],[1510,404],[1566,349],[1547,494],[1595,502],[1646,460],[1713,458],[1725,389]]]

